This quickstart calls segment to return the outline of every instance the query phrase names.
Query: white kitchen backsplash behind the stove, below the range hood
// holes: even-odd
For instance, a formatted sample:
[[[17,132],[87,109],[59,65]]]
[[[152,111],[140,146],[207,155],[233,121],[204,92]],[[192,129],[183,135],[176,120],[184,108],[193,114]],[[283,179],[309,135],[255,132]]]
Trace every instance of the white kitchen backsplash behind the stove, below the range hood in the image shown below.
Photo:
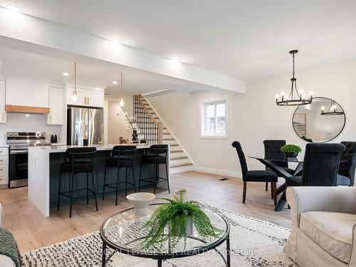
[[[26,113],[12,113],[6,115],[7,122],[0,123],[0,145],[6,144],[6,132],[46,132],[47,141],[51,141],[51,135],[58,136],[58,142],[66,141],[61,140],[59,136],[61,126],[59,125],[46,125],[46,114],[26,114]]]

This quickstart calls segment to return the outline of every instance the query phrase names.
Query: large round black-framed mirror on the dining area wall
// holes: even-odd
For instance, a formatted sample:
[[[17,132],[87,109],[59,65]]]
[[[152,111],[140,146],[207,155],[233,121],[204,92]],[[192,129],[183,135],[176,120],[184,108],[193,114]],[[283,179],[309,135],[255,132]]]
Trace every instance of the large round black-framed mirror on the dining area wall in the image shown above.
[[[313,98],[293,114],[295,133],[307,142],[328,142],[340,135],[345,126],[345,112],[330,98]]]

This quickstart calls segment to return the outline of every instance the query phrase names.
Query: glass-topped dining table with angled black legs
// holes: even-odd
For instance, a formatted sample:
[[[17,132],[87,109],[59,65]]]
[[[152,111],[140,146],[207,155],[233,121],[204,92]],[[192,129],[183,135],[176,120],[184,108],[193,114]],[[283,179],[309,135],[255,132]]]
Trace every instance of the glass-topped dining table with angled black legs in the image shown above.
[[[265,159],[265,157],[262,156],[248,156],[251,159],[257,159],[259,162],[261,162],[263,165],[271,169],[273,172],[276,172],[278,174],[278,177],[283,177],[286,179],[286,182],[281,184],[276,190],[277,196],[281,194],[281,197],[279,197],[276,206],[274,207],[275,211],[282,211],[283,207],[286,205],[287,199],[286,199],[286,190],[288,187],[288,180],[290,180],[291,177],[295,176],[300,176],[303,171],[303,159],[298,159],[298,157],[286,157],[284,159]],[[296,164],[295,170],[293,173],[287,172],[286,169],[283,169],[278,162],[288,162],[288,163],[294,163]]]

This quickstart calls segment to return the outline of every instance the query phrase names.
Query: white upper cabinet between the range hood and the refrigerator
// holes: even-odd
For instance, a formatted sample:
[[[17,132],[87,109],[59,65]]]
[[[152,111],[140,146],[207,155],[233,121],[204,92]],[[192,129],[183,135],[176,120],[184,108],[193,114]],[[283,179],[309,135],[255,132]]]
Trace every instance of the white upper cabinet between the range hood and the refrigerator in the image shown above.
[[[48,88],[49,113],[47,117],[48,125],[63,124],[63,88]]]

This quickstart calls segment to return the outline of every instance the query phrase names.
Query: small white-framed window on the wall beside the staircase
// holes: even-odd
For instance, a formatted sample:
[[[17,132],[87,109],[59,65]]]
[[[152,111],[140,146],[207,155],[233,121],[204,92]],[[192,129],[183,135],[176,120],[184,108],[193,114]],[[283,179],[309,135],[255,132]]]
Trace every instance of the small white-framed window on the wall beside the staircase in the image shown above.
[[[201,136],[227,137],[226,100],[201,105]]]

